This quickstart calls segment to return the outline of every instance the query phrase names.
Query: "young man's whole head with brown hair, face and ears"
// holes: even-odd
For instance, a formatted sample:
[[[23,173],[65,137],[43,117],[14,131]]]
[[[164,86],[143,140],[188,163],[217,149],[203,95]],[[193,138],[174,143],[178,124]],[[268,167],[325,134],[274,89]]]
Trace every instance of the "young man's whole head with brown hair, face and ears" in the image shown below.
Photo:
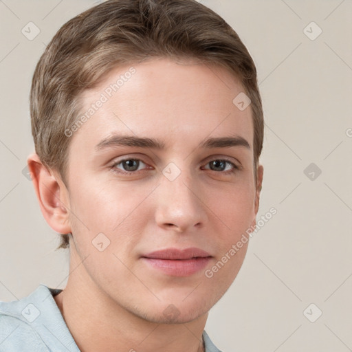
[[[236,32],[193,0],[106,1],[58,30],[30,104],[30,170],[59,248],[87,258],[97,287],[141,316],[159,321],[160,301],[178,321],[210,309],[248,243],[212,278],[204,270],[255,225],[263,178],[256,68]],[[211,257],[190,276],[144,263],[190,247]],[[142,294],[153,303],[138,305]]]

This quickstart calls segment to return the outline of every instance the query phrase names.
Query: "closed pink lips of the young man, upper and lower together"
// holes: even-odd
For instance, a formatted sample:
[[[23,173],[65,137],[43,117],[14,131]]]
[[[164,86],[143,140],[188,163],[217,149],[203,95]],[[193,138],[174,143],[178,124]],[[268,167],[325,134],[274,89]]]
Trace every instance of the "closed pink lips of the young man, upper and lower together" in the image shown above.
[[[167,248],[144,254],[141,259],[153,269],[170,276],[190,276],[202,270],[212,256],[199,248]]]

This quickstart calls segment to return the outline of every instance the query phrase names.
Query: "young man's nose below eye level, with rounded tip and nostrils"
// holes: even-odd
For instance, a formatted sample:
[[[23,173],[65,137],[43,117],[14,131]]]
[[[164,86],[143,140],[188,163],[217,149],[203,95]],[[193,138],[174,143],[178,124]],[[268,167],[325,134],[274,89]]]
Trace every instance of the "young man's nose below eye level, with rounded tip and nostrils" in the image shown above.
[[[182,171],[173,180],[162,175],[157,188],[155,221],[164,230],[188,232],[201,228],[207,221],[206,206],[201,199],[199,183]]]

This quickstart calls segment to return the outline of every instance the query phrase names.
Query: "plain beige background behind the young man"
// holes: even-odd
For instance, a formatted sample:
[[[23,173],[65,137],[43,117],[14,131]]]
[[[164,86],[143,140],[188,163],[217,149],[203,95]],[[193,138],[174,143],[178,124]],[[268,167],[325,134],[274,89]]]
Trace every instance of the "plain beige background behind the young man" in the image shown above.
[[[351,351],[352,1],[201,2],[232,25],[257,65],[266,122],[258,219],[277,209],[206,331],[224,352]],[[68,255],[55,251],[58,236],[22,175],[34,150],[28,94],[45,44],[91,5],[0,1],[0,300],[39,283],[65,287]],[[41,31],[32,41],[21,33],[30,21]],[[305,34],[318,34],[312,21],[322,30],[315,40]],[[311,163],[322,170],[314,180],[304,173]],[[311,320],[322,311],[316,322],[303,314],[311,303]]]

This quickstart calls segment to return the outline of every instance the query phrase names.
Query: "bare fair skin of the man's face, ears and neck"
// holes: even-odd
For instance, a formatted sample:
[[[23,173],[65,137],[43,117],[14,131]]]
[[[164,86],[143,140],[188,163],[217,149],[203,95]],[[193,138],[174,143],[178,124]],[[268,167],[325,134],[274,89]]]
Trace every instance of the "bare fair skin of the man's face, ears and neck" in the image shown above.
[[[67,185],[36,154],[28,157],[47,223],[73,234],[67,286],[54,299],[80,351],[202,351],[208,311],[234,281],[248,243],[212,278],[204,272],[256,225],[263,166],[253,168],[251,110],[232,103],[243,87],[221,67],[166,58],[133,67],[135,74],[70,137]],[[128,69],[114,69],[85,91],[83,111]],[[96,151],[113,133],[157,138],[166,147]],[[207,137],[233,135],[250,148],[199,147]],[[239,169],[228,162],[212,167],[223,157]],[[129,170],[121,163],[113,168],[124,158],[141,160],[133,175],[117,173]],[[181,172],[173,181],[162,173],[170,162]],[[102,252],[91,243],[99,233],[110,241]],[[140,258],[189,247],[212,256],[190,276],[170,276]],[[169,305],[177,309],[172,318],[163,314]]]

